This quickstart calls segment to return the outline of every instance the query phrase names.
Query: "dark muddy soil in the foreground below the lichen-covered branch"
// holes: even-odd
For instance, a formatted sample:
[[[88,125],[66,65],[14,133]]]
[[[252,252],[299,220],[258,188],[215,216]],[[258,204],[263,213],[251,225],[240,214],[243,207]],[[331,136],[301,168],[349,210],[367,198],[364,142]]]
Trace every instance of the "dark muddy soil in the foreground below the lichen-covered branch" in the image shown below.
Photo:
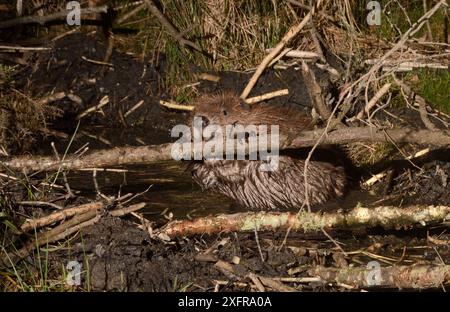
[[[442,227],[436,228],[429,234],[439,234],[442,230]],[[282,245],[284,234],[259,233],[260,254],[253,233],[204,235],[163,243],[150,239],[147,233],[130,221],[105,217],[95,226],[83,230],[82,240],[74,243],[69,252],[53,257],[59,265],[76,260],[86,266],[87,260],[90,285],[92,290],[97,291],[212,291],[217,281],[227,282],[220,287],[221,291],[251,291],[250,283],[235,284],[238,279],[214,266],[218,260],[231,263],[236,257],[240,260],[236,270],[242,275],[252,272],[268,277],[308,277],[308,269],[315,265],[344,268],[351,263],[373,260],[362,253],[345,257],[320,234],[292,233],[286,244]],[[434,264],[441,263],[441,259],[450,260],[448,246],[433,249],[427,243],[427,231],[423,230],[330,234],[339,237],[347,251],[366,246],[366,250],[384,257],[402,259],[401,263],[417,261],[418,258]],[[444,240],[448,238],[448,234],[440,237]],[[208,257],[202,258],[207,250]],[[406,256],[402,258],[405,250]],[[245,278],[239,281],[249,282]],[[86,287],[85,282],[83,287]],[[303,291],[343,290],[322,283],[291,286]]]

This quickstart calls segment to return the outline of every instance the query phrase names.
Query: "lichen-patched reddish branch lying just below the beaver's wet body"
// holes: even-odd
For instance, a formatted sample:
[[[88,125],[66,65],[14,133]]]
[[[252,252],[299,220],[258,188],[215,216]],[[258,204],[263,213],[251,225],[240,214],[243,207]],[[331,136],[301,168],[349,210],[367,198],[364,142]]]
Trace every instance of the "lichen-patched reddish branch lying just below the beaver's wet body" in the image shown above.
[[[317,232],[322,229],[353,229],[360,227],[382,227],[396,229],[450,220],[449,206],[380,206],[375,208],[356,207],[348,213],[237,213],[198,218],[195,220],[172,221],[159,230],[162,237],[178,237],[222,232],[248,232],[291,230]]]

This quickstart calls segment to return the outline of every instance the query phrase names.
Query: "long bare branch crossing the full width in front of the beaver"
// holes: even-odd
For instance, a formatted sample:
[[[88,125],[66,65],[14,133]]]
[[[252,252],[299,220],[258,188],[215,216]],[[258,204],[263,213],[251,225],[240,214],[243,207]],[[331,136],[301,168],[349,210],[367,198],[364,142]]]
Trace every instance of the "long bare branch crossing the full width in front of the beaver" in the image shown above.
[[[305,131],[290,140],[280,137],[280,148],[302,148],[314,146],[324,129]],[[450,146],[450,134],[445,131],[414,129],[377,129],[370,127],[341,128],[327,133],[321,144],[347,144],[352,142],[408,142],[424,145]],[[250,150],[251,151],[251,150]],[[181,157],[180,157],[181,158]],[[50,156],[18,156],[0,161],[0,170],[6,168],[21,172],[79,170],[83,168],[102,168],[125,164],[152,163],[173,160],[172,144],[148,145],[139,147],[119,147],[94,151],[83,156],[67,155],[61,163]]]

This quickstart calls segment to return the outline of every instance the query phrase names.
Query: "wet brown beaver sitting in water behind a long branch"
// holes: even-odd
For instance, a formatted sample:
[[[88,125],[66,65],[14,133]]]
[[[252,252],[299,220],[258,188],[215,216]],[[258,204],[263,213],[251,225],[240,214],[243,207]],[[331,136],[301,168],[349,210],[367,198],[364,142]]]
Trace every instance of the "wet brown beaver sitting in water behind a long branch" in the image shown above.
[[[298,110],[260,104],[245,109],[239,97],[231,93],[201,97],[191,118],[194,116],[220,126],[279,125],[281,134],[311,127],[310,118]],[[204,160],[191,164],[193,179],[203,190],[221,193],[246,208],[300,208],[305,203],[305,158],[281,155],[275,171],[261,171],[260,166],[258,160]],[[343,195],[346,176],[342,167],[311,160],[307,174],[311,205]]]

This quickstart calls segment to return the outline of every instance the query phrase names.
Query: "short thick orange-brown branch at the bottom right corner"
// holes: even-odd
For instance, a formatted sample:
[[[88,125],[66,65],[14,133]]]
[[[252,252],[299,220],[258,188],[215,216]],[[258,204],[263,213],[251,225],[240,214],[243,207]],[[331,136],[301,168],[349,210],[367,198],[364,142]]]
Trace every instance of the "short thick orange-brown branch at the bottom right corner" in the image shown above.
[[[317,266],[308,271],[328,283],[347,284],[357,288],[398,287],[438,288],[450,283],[450,265],[414,265],[380,267],[379,271],[365,267],[325,268]],[[373,278],[371,278],[373,277]]]

